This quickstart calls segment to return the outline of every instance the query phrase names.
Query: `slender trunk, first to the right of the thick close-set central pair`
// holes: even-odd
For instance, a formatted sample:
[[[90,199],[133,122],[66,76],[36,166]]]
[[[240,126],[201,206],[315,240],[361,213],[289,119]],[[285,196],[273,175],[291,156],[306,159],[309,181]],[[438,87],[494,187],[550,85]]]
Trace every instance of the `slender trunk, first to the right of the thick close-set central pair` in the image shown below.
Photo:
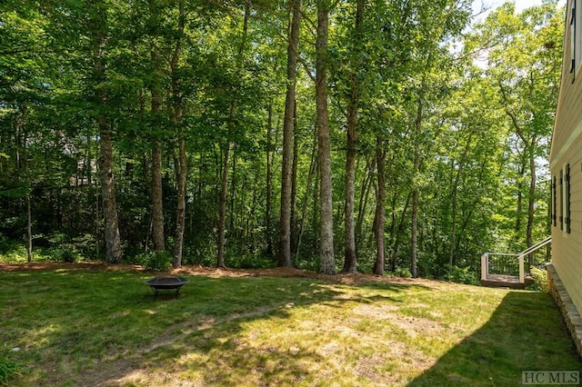
[[[384,226],[386,224],[386,182],[384,178],[386,169],[386,150],[384,140],[376,136],[376,171],[378,186],[376,187],[376,263],[374,273],[384,275],[386,263],[386,238],[384,236]]]

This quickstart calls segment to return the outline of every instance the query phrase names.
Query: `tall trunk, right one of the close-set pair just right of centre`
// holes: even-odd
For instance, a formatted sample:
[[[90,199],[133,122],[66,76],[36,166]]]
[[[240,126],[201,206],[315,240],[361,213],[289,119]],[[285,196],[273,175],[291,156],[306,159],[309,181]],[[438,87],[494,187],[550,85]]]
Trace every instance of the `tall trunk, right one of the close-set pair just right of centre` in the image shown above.
[[[356,6],[356,38],[354,41],[356,60],[353,64],[350,80],[350,99],[347,106],[347,152],[346,152],[346,205],[344,230],[344,273],[356,273],[356,227],[354,222],[355,190],[356,190],[356,155],[357,155],[357,108],[359,104],[359,84],[357,71],[360,66],[359,45],[362,43],[361,28],[364,22],[364,0],[357,0]]]

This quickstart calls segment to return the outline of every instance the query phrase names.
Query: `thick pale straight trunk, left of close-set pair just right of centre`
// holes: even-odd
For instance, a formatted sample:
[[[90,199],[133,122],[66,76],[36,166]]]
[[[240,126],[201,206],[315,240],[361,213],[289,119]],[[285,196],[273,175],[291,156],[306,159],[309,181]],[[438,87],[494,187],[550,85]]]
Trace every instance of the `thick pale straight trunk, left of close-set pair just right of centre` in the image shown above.
[[[336,274],[334,258],[334,208],[331,183],[331,144],[327,115],[327,33],[328,5],[326,0],[317,2],[316,37],[316,124],[317,156],[319,160],[321,201],[321,255],[319,273]]]

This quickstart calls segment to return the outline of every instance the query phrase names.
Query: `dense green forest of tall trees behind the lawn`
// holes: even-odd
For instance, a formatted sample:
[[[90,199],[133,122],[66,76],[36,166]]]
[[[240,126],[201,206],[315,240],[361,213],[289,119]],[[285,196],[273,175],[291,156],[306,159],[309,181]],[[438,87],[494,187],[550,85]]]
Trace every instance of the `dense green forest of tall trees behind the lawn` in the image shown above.
[[[477,273],[482,253],[549,233],[564,27],[552,0],[480,11],[5,0],[2,243],[107,263]]]

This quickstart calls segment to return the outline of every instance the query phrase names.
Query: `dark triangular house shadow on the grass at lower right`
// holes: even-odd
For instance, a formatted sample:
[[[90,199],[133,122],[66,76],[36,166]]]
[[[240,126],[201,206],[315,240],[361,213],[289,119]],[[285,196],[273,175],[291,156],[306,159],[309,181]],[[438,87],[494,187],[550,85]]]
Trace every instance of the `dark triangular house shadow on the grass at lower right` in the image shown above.
[[[580,371],[557,307],[547,293],[509,292],[477,332],[409,386],[520,385],[523,371]]]

